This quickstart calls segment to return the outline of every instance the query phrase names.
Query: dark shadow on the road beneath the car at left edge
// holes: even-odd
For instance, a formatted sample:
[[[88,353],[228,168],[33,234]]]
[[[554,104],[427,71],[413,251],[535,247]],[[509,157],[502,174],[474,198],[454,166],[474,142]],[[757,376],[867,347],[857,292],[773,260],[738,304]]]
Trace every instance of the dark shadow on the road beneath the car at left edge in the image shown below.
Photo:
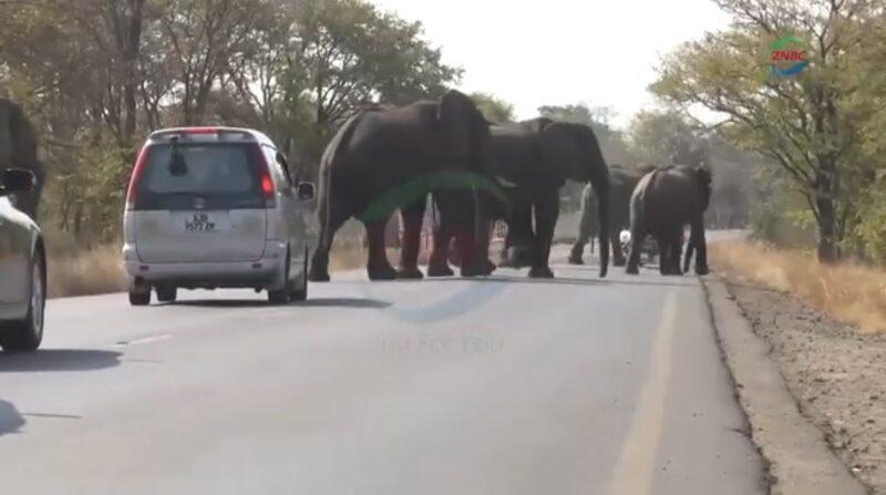
[[[120,352],[89,349],[48,349],[31,353],[0,353],[0,373],[103,370],[120,365],[122,355]]]

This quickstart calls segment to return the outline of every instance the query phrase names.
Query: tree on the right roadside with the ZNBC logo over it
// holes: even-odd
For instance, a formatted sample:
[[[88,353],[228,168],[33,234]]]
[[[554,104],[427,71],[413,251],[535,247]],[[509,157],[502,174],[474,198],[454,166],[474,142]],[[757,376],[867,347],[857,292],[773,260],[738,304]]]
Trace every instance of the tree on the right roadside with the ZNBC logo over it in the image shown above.
[[[651,90],[683,109],[724,115],[731,140],[776,163],[805,198],[818,231],[818,258],[832,261],[857,218],[852,183],[869,102],[858,100],[857,70],[866,33],[884,22],[882,2],[718,0],[732,16],[667,56]],[[792,35],[808,43],[810,65],[795,76],[769,72],[770,43]],[[864,174],[861,174],[862,176]]]

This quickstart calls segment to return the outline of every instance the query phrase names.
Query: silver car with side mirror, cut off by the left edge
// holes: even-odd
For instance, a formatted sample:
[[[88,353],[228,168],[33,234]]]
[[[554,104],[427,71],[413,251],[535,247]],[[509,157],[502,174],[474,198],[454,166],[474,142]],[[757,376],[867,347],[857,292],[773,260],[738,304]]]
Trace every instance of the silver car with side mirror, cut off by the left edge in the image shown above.
[[[34,220],[16,208],[11,195],[37,186],[30,171],[10,168],[0,185],[0,348],[33,351],[43,340],[47,258]]]

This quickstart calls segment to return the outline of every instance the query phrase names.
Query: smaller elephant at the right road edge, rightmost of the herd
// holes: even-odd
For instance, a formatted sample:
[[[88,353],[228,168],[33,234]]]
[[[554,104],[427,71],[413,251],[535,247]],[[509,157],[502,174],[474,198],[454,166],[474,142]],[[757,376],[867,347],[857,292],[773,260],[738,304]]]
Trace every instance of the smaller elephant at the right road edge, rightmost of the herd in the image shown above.
[[[708,274],[704,210],[710,200],[711,171],[704,166],[668,165],[646,174],[633,189],[630,202],[631,247],[627,272],[639,272],[643,240],[652,235],[658,244],[661,275],[682,275],[681,239],[688,224],[691,234],[687,255],[694,250],[696,274]]]

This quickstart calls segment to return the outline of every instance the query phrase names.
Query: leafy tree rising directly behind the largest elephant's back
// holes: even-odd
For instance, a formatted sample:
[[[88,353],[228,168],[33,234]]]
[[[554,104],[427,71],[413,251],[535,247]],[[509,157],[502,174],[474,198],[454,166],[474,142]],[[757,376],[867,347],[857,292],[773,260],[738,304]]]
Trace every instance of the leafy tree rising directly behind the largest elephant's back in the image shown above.
[[[286,54],[284,100],[293,116],[310,111],[313,135],[302,135],[316,161],[336,128],[361,106],[435,97],[461,78],[440,49],[409,22],[364,0],[296,0]]]

